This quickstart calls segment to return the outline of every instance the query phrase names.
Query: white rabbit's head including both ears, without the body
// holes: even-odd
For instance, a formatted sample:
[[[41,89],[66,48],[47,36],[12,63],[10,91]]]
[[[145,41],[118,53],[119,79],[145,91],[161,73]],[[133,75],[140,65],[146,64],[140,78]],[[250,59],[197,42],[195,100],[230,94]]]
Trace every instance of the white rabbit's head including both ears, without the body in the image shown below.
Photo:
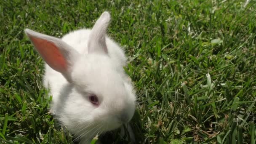
[[[87,54],[78,53],[59,38],[25,29],[43,60],[69,82],[66,102],[56,115],[69,131],[80,136],[118,128],[128,123],[135,111],[133,86],[108,55],[105,34],[109,21],[107,12],[96,21]]]

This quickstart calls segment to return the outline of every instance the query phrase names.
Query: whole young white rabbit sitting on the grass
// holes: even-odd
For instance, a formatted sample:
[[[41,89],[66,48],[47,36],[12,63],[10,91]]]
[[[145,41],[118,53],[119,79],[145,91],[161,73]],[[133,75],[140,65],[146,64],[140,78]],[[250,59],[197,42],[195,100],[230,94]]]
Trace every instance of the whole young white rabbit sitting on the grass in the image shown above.
[[[50,112],[84,144],[128,123],[135,111],[133,86],[123,70],[125,54],[106,36],[109,21],[104,12],[92,29],[62,39],[25,29],[46,62],[43,83],[53,96]]]

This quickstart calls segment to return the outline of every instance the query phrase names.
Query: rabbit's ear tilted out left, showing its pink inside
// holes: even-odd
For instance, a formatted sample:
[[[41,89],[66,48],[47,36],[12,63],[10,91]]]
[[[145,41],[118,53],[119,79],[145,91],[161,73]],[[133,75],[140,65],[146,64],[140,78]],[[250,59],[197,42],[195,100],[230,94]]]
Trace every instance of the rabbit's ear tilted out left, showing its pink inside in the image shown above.
[[[25,29],[25,33],[43,60],[52,69],[61,72],[69,82],[72,82],[71,70],[79,53],[59,38],[44,35],[31,29]]]

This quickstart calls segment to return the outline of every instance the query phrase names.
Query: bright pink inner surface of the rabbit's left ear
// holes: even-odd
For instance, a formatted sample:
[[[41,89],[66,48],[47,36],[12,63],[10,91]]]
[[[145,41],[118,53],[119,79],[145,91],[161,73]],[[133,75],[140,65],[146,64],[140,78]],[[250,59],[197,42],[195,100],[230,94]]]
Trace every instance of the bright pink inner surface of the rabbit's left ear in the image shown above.
[[[38,53],[40,53],[44,61],[51,68],[58,72],[67,71],[67,61],[54,43],[37,37],[30,37],[30,39],[34,43]]]

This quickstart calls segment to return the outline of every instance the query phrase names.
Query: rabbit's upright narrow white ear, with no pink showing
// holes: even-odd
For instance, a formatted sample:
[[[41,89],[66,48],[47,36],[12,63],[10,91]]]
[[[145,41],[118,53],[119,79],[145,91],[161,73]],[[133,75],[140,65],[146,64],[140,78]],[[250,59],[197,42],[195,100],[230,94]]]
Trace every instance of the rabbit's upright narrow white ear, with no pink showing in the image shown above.
[[[105,11],[94,24],[88,40],[88,53],[108,53],[105,35],[109,21],[110,15]]]

